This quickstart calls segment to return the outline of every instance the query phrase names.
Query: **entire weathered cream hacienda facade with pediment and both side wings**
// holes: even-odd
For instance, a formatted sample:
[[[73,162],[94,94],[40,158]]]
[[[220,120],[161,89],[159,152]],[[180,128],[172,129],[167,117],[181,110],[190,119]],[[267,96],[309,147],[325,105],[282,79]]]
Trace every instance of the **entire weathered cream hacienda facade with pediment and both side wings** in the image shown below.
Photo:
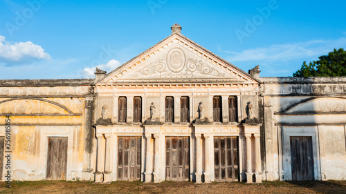
[[[345,77],[260,77],[172,26],[95,79],[0,80],[13,180],[346,180]]]

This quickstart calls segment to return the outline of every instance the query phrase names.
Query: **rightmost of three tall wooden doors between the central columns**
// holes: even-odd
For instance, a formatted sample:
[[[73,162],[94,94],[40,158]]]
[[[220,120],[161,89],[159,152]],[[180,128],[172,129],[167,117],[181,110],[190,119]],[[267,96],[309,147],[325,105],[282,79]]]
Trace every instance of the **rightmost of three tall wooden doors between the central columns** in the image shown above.
[[[238,137],[214,137],[215,181],[239,180]]]

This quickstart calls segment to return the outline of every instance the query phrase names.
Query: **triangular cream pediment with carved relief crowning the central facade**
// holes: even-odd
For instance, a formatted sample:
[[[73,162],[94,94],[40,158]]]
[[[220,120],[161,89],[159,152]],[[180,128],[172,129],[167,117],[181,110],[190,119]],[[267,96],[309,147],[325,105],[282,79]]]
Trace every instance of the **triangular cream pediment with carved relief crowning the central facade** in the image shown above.
[[[246,72],[179,33],[167,37],[113,70],[99,84],[172,81],[228,81],[256,84]]]

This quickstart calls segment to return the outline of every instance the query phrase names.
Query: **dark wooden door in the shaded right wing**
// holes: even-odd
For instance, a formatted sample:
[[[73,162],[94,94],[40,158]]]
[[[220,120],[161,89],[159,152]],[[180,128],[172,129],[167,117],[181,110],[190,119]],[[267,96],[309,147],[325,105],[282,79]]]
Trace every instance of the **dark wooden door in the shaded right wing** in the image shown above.
[[[292,136],[290,143],[292,180],[313,180],[311,136]]]

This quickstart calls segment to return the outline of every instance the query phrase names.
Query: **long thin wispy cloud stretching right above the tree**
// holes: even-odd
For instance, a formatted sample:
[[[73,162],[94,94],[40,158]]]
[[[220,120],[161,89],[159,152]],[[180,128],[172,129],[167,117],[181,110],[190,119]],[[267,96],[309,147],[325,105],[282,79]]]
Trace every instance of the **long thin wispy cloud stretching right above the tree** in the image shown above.
[[[233,61],[291,61],[292,59],[310,59],[327,55],[334,48],[344,48],[346,38],[336,40],[313,40],[298,43],[275,44],[263,48],[243,50],[242,52],[224,51],[230,54],[226,57],[230,62]]]

